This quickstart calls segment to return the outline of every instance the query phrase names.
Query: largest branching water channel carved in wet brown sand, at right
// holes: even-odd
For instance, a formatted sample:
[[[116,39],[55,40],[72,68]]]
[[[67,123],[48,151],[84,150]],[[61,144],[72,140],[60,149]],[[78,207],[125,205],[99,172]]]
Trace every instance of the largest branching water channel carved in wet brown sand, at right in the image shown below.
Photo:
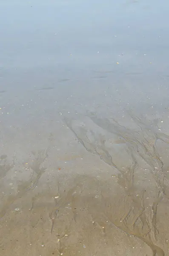
[[[158,246],[160,233],[157,224],[157,212],[160,201],[164,200],[167,204],[169,202],[163,186],[168,180],[166,180],[163,170],[164,163],[158,153],[156,144],[158,140],[168,144],[169,137],[155,131],[155,127],[144,123],[133,114],[130,115],[137,125],[137,130],[126,128],[114,119],[100,119],[91,115],[92,121],[103,129],[100,136],[97,136],[91,130],[85,131],[84,128],[76,131],[68,120],[66,120],[66,124],[88,152],[96,154],[107,165],[112,166],[119,172],[117,182],[123,187],[126,194],[121,199],[123,200],[124,209],[116,212],[114,214],[116,218],[113,218],[110,208],[115,211],[115,207],[102,194],[105,218],[120,230],[143,240],[151,247],[153,256],[164,256],[164,250],[160,245]],[[105,131],[109,135],[104,134]],[[126,149],[128,159],[131,160],[129,166],[125,166],[126,156],[123,156],[123,149],[118,152],[118,154],[121,153],[121,163],[119,163],[120,157],[116,155],[117,152],[110,145],[106,145],[106,143],[110,144],[108,141],[111,140],[111,134],[117,136],[119,142],[121,141],[120,143],[124,144],[123,148]],[[95,137],[95,143],[90,140],[89,136]],[[118,142],[111,143],[112,146],[116,143],[119,145]],[[126,161],[126,163],[128,162],[129,160]],[[122,167],[123,165],[125,167]],[[148,166],[147,169],[144,169],[147,171],[145,172],[145,181],[143,181],[143,173],[141,173],[143,172],[143,166]],[[149,194],[149,197],[146,197],[147,194]],[[147,204],[147,201],[149,201],[149,204]],[[111,204],[112,207],[110,207]]]

